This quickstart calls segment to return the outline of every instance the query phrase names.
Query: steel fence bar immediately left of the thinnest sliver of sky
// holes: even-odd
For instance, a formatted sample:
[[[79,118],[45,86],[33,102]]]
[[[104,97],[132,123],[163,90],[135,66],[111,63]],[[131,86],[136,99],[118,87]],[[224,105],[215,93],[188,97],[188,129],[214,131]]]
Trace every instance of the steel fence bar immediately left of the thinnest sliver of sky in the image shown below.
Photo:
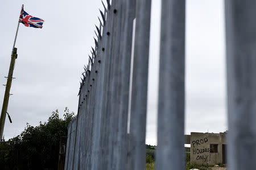
[[[130,68],[131,68],[131,45],[133,38],[133,19],[135,18],[136,1],[122,1],[122,37],[120,43],[121,55],[119,55],[119,106],[118,132],[117,132],[117,169],[126,169],[127,166],[127,117],[129,108]]]

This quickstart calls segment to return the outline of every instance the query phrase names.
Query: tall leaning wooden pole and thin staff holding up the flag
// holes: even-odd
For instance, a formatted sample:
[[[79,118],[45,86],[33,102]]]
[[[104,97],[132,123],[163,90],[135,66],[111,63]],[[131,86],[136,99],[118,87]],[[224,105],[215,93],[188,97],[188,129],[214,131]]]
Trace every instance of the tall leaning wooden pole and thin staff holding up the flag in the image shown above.
[[[22,5],[22,8],[23,6],[24,5]],[[8,73],[7,83],[5,88],[5,97],[3,98],[3,106],[2,106],[1,117],[0,117],[0,140],[2,140],[3,138],[3,128],[5,127],[5,118],[6,118],[6,113],[7,113],[8,103],[9,103],[9,97],[10,97],[11,81],[13,80],[15,60],[18,56],[17,48],[15,48],[18,30],[19,30],[19,20],[18,20],[18,26],[16,29],[16,34],[15,34],[14,43],[13,43],[13,51],[11,52],[11,63],[10,63],[10,68],[9,68],[9,73]]]

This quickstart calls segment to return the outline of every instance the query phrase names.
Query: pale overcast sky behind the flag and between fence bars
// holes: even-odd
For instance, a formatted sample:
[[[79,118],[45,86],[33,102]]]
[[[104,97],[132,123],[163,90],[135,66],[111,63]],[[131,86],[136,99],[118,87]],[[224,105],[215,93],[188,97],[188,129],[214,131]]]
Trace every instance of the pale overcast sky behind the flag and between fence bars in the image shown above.
[[[104,1],[105,2],[105,1]],[[187,0],[185,134],[227,130],[225,89],[224,2]],[[0,6],[0,83],[6,84],[20,7],[45,20],[42,29],[20,24],[8,112],[6,139],[47,121],[53,110],[77,113],[82,67],[94,44],[101,1],[12,1]],[[160,0],[152,0],[146,143],[156,144]],[[5,87],[0,88],[2,108]]]

